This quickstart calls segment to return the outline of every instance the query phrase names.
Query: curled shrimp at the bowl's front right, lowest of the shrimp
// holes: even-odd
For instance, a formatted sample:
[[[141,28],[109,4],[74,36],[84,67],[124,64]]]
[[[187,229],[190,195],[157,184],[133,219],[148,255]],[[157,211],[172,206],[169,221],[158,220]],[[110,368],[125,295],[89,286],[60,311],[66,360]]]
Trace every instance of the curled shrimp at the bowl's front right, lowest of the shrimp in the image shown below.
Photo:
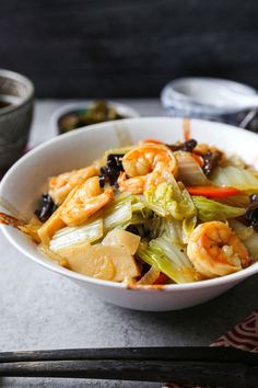
[[[190,236],[187,255],[207,278],[228,275],[250,264],[244,243],[221,221],[200,224]]]

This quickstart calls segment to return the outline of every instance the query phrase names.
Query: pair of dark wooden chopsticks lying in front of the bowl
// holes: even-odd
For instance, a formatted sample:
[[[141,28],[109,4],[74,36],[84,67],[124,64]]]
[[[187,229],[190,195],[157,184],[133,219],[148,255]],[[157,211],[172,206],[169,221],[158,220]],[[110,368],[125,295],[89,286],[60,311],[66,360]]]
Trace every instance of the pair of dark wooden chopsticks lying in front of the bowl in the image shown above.
[[[0,353],[0,376],[257,387],[258,355],[234,347],[114,347]]]

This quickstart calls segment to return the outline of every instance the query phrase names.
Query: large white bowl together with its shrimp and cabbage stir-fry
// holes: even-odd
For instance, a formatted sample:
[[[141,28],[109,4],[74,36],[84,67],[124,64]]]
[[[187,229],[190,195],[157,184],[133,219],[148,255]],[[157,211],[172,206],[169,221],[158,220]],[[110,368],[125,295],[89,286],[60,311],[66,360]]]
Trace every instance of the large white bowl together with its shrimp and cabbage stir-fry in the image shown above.
[[[109,303],[195,306],[258,272],[257,146],[255,134],[197,119],[78,129],[9,170],[0,227]]]

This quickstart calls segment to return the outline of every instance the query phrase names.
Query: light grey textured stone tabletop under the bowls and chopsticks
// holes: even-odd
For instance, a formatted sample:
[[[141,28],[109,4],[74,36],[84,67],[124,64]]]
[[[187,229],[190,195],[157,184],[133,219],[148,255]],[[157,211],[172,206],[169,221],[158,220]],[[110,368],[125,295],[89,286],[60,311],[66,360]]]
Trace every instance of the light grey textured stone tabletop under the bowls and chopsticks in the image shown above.
[[[127,101],[141,115],[164,115],[157,100]],[[55,136],[51,113],[63,101],[38,101],[31,146]],[[208,345],[258,308],[258,276],[204,305],[141,312],[107,305],[16,251],[0,233],[0,350]],[[0,379],[0,387],[161,387],[159,384]]]

